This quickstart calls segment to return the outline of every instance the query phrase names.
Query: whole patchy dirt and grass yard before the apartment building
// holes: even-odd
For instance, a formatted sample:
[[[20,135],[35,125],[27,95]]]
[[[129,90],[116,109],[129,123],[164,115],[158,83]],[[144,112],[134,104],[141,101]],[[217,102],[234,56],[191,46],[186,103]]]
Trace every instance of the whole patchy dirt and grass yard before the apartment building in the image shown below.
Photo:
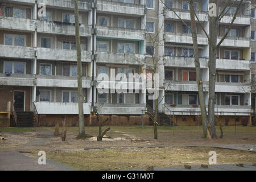
[[[107,126],[104,126],[104,129]],[[36,127],[32,131],[15,132],[0,129],[0,151],[18,150],[37,155],[46,151],[47,158],[80,170],[112,170],[181,166],[208,163],[208,153],[217,152],[218,164],[255,163],[256,152],[226,150],[212,147],[180,147],[180,145],[256,144],[256,127],[234,126],[224,128],[224,138],[203,139],[199,126],[158,127],[158,140],[153,139],[152,126],[110,126],[102,142],[97,142],[98,127],[85,127],[92,138],[75,139],[78,127],[68,127],[67,139],[53,135],[54,127]],[[217,135],[220,129],[216,127]],[[61,131],[61,127],[60,127]],[[44,134],[47,133],[47,134]],[[136,148],[129,146],[170,145],[163,148]],[[175,147],[176,146],[176,147]],[[115,147],[84,150],[90,147]]]

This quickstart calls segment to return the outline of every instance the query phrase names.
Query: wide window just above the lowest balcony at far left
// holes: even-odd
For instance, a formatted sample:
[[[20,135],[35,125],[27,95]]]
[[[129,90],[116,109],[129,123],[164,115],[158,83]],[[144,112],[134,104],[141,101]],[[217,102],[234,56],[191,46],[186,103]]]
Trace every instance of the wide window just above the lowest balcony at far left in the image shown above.
[[[25,74],[26,73],[26,63],[22,62],[4,62],[4,73],[13,74]]]

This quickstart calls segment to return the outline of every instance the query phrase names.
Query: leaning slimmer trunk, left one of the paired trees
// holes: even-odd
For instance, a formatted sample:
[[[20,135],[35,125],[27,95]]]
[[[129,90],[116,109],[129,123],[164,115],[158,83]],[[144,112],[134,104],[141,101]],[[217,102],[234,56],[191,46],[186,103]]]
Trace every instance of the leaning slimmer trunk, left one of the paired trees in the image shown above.
[[[189,1],[189,8],[193,9],[193,2]],[[205,106],[205,98],[204,98],[204,85],[202,80],[201,66],[199,60],[199,48],[197,43],[197,34],[196,34],[196,21],[194,11],[190,11],[191,16],[191,29],[192,29],[192,39],[193,39],[193,49],[195,55],[195,67],[196,67],[196,82],[199,93],[199,101],[200,101],[200,110],[201,110],[201,121],[203,124],[203,138],[208,138],[207,135],[207,126],[208,126],[208,118],[207,118],[207,110]]]

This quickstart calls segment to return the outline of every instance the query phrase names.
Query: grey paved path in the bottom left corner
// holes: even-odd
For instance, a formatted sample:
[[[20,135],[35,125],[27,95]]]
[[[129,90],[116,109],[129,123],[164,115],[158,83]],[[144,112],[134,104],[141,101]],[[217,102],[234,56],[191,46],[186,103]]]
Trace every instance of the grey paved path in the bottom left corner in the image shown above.
[[[0,171],[73,171],[73,168],[46,159],[46,165],[39,165],[38,158],[28,157],[18,151],[0,152]]]

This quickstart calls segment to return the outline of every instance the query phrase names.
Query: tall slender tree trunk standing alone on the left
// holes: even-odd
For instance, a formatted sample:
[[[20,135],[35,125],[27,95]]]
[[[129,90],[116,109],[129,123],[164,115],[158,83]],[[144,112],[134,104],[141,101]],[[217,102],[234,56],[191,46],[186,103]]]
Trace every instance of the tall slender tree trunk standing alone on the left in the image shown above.
[[[84,97],[82,94],[82,61],[81,61],[81,43],[80,43],[80,34],[79,34],[79,9],[77,5],[77,0],[74,0],[75,3],[75,24],[76,24],[76,52],[77,52],[77,86],[78,86],[78,104],[79,104],[79,135],[77,138],[84,138],[85,129],[84,129]]]

